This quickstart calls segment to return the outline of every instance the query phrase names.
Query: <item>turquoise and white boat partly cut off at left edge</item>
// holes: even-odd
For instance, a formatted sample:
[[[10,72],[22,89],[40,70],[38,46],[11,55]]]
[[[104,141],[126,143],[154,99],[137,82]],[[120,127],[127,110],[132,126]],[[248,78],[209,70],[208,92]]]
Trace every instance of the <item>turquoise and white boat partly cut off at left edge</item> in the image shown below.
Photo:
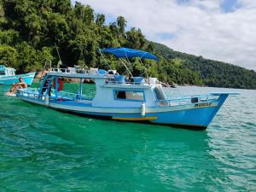
[[[15,84],[22,78],[28,86],[31,86],[36,73],[15,74],[15,68],[0,65],[0,84]]]

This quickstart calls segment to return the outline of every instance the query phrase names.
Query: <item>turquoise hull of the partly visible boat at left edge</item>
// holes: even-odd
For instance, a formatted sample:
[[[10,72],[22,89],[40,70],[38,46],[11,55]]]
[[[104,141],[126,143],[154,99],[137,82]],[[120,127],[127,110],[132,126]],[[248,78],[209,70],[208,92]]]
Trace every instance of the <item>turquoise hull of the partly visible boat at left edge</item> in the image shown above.
[[[13,75],[13,76],[5,76],[5,77],[0,77],[0,84],[15,84],[19,82],[19,78],[21,77],[24,82],[28,86],[31,86],[32,81],[35,77],[36,73],[26,73],[26,74],[20,74],[20,75]]]

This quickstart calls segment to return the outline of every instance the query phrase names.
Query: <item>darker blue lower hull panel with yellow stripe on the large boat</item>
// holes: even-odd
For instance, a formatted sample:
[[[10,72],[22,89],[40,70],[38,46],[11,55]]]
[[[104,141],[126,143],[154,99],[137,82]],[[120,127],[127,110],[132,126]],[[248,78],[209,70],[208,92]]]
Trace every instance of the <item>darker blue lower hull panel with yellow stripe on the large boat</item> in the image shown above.
[[[62,109],[63,110],[63,109]],[[65,110],[68,112],[68,110]],[[152,123],[158,125],[170,125],[173,127],[189,128],[195,130],[207,129],[213,117],[218,112],[218,107],[182,109],[178,111],[169,111],[163,113],[147,113],[142,116],[140,113],[84,113],[79,111],[69,111],[90,115],[96,118],[108,117],[108,119],[120,121],[135,121],[143,123]]]

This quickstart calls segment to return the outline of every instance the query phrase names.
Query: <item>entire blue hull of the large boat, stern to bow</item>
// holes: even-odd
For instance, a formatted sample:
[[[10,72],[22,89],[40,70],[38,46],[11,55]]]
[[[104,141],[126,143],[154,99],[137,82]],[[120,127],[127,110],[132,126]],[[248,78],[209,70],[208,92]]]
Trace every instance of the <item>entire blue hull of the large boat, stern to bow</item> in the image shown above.
[[[19,95],[17,95],[19,96]],[[171,125],[174,127],[189,128],[193,130],[204,130],[226,100],[228,94],[219,96],[218,101],[191,103],[189,105],[147,108],[145,115],[141,114],[141,108],[96,108],[91,104],[79,102],[44,101],[34,100],[20,96],[26,102],[33,102],[49,108],[61,110],[67,113],[77,113],[99,119],[113,119],[122,121],[147,122],[160,125]]]

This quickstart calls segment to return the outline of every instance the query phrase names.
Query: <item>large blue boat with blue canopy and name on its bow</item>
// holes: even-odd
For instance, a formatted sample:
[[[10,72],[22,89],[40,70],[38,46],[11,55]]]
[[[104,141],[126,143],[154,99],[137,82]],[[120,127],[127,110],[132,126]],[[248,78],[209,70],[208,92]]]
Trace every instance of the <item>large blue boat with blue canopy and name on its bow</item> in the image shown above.
[[[119,58],[127,72],[125,59],[157,61],[158,58],[143,50],[115,48],[100,49],[101,55]],[[63,79],[79,79],[77,93],[63,91]],[[90,99],[83,95],[84,79],[94,79],[96,95]],[[121,121],[136,121],[157,125],[204,130],[230,95],[237,93],[209,93],[193,96],[172,96],[167,99],[162,84],[156,78],[132,77],[113,69],[52,68],[38,89],[20,89],[16,96],[26,102],[68,113]]]

